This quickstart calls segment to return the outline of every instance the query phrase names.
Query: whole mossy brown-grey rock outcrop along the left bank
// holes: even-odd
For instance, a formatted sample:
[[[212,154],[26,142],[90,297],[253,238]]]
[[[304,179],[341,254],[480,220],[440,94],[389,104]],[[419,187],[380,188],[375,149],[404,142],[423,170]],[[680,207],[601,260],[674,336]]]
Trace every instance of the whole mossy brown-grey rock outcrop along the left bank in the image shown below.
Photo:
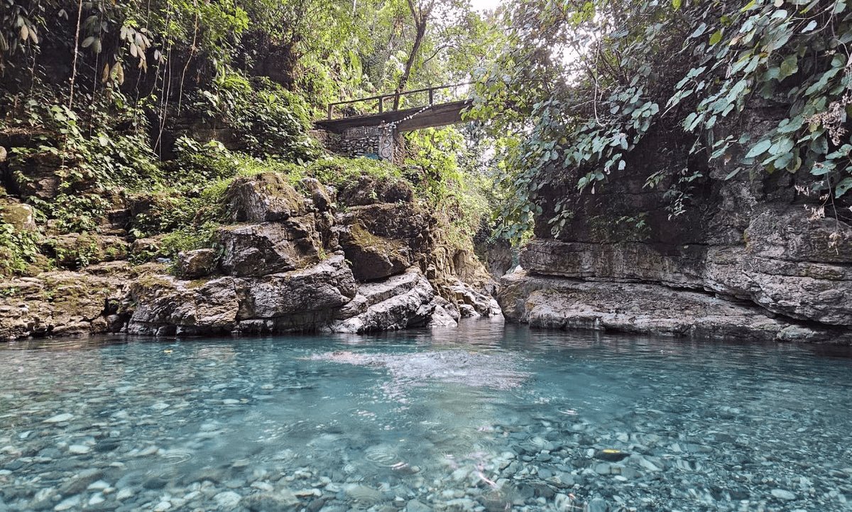
[[[226,197],[238,223],[218,229],[216,248],[183,251],[176,262],[101,263],[3,282],[0,337],[364,333],[499,314],[490,297],[436,260],[437,221],[413,201],[410,187],[337,193],[308,178],[298,188],[273,173],[234,181]],[[337,204],[346,208],[338,212]],[[75,257],[78,238],[62,239],[57,253]],[[94,239],[102,245],[115,238]],[[124,243],[117,257],[143,255],[159,243]],[[108,259],[110,251],[91,246],[98,261]]]

